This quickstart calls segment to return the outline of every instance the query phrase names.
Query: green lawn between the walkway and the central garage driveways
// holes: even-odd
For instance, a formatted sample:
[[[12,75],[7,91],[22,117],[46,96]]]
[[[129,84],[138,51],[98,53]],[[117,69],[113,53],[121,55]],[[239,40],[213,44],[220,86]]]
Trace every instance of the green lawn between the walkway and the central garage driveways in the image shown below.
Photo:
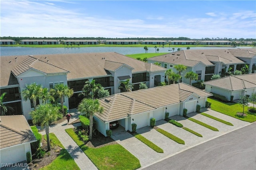
[[[135,170],[140,161],[121,145],[89,148],[79,139],[72,128],[65,130],[99,170]]]

